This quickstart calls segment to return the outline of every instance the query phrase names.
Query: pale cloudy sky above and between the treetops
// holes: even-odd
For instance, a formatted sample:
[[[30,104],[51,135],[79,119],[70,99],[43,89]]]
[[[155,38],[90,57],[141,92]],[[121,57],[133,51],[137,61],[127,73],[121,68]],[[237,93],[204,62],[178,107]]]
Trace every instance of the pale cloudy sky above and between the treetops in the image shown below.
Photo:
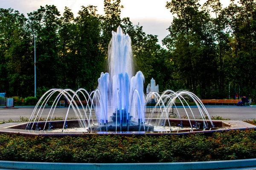
[[[121,18],[130,17],[134,25],[138,23],[143,26],[146,34],[158,36],[158,43],[169,34],[167,28],[172,23],[172,14],[165,7],[166,2],[171,0],[121,0],[124,6],[121,11]],[[22,14],[36,11],[40,6],[55,5],[61,14],[65,6],[69,7],[74,16],[77,16],[81,6],[97,6],[98,14],[104,14],[104,0],[0,0],[0,8],[13,8]],[[200,0],[200,4],[206,0]],[[230,0],[221,0],[223,7],[228,6]]]

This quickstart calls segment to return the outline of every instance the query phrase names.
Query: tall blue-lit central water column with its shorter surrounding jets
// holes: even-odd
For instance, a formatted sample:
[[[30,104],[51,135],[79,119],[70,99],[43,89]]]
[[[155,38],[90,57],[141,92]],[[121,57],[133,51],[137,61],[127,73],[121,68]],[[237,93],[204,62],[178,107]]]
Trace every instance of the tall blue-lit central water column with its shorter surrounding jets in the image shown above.
[[[112,31],[108,46],[109,73],[102,73],[98,79],[99,103],[96,115],[100,125],[108,125],[109,120],[128,126],[133,120],[145,122],[143,93],[144,75],[138,71],[133,76],[133,55],[131,38],[123,34],[119,26]]]

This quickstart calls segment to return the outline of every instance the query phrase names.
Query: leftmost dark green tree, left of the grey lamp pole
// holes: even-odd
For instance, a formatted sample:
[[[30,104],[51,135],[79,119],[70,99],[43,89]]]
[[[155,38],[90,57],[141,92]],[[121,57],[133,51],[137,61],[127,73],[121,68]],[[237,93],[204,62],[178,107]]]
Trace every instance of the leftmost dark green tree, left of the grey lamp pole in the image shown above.
[[[0,9],[0,88],[9,96],[31,95],[31,40],[26,18],[13,9]]]

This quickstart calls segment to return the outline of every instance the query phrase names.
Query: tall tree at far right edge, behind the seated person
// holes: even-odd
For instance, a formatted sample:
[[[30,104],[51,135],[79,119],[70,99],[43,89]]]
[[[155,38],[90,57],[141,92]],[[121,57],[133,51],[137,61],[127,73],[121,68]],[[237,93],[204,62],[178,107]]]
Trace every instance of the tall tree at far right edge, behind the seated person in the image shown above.
[[[244,95],[256,96],[256,2],[239,0],[224,9],[223,15],[230,31],[232,51],[228,59],[231,81],[239,85]]]

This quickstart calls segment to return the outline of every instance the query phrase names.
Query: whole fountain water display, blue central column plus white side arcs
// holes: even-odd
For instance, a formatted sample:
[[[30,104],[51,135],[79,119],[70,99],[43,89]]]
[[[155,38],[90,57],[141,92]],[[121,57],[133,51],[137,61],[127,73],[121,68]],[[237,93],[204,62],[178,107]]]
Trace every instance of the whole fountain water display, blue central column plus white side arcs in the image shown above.
[[[143,92],[145,82],[144,75],[138,71],[135,76],[133,69],[133,55],[131,39],[128,34],[123,34],[119,26],[117,31],[112,31],[112,38],[108,48],[109,73],[102,73],[98,79],[98,87],[92,92],[83,88],[73,91],[71,89],[50,89],[35,106],[26,130],[51,130],[52,119],[57,103],[64,98],[69,103],[67,113],[64,115],[62,131],[67,125],[70,109],[73,109],[79,126],[87,132],[153,132],[154,127],[167,127],[166,131],[172,131],[172,122],[169,113],[175,109],[179,116],[179,127],[184,124],[175,103],[179,103],[188,118],[187,126],[191,131],[199,128],[187,99],[195,102],[201,115],[201,127],[207,129],[214,127],[209,113],[201,100],[189,91],[167,90],[163,94],[158,93],[158,85],[151,79],[150,92]],[[147,88],[149,89],[149,87]],[[80,94],[80,95],[79,95]],[[44,114],[47,103],[54,98],[49,113]],[[154,99],[154,106],[148,106]],[[150,111],[145,114],[145,109]],[[44,125],[39,122],[41,117],[47,117]],[[94,119],[96,116],[96,119]],[[192,120],[190,117],[192,116]],[[206,118],[209,118],[207,121]],[[177,121],[176,121],[177,122]],[[39,128],[39,126],[41,126]]]

